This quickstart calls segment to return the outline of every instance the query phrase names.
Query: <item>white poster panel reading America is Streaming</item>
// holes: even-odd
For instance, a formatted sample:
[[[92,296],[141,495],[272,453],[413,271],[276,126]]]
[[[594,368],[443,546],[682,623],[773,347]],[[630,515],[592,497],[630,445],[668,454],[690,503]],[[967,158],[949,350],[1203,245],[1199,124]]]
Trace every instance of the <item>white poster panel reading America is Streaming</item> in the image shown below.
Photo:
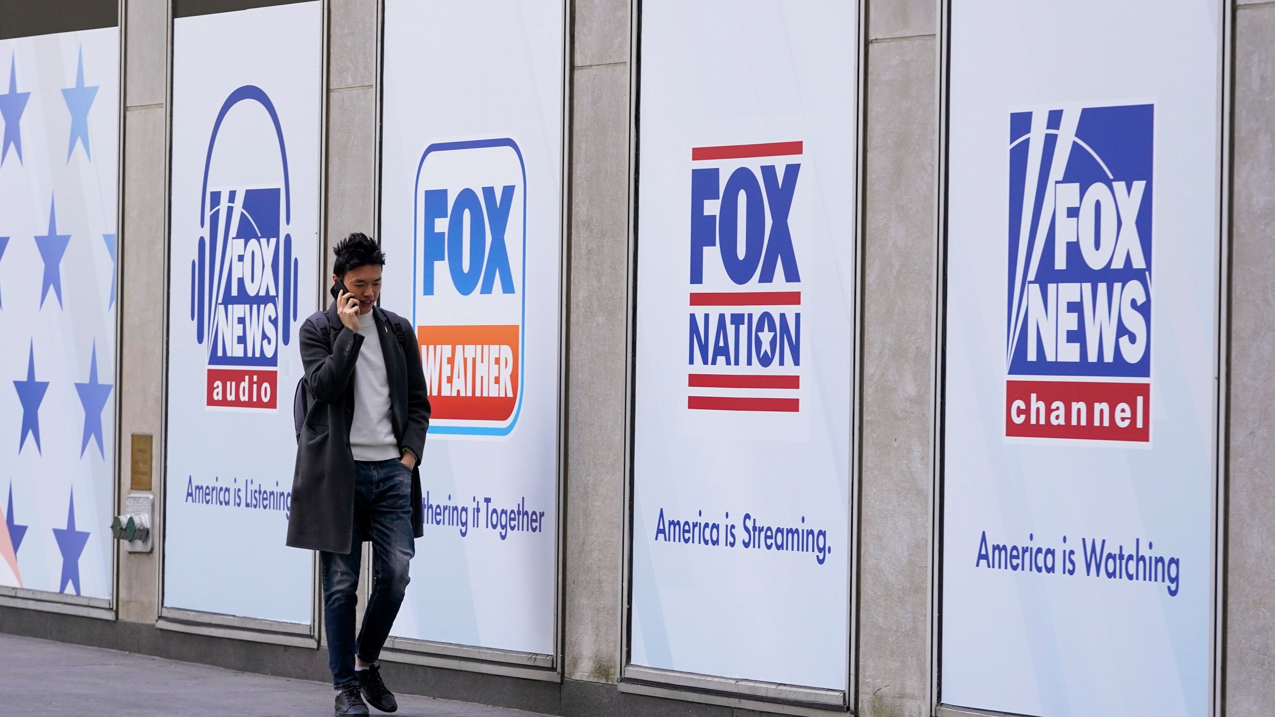
[[[643,3],[632,665],[847,688],[857,13]]]

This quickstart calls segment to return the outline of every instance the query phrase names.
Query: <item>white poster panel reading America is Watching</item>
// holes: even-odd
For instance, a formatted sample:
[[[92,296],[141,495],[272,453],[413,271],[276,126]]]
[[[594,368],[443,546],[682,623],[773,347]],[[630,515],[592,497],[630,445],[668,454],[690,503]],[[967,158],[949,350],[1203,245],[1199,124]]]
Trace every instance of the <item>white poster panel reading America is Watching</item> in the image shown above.
[[[951,4],[941,700],[1211,713],[1223,4]]]

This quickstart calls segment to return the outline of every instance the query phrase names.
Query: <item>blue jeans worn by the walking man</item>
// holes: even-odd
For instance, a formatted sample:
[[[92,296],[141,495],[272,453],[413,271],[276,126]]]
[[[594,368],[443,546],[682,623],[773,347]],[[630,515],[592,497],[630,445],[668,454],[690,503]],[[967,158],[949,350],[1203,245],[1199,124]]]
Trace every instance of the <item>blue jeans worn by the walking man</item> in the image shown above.
[[[372,541],[372,593],[354,637],[358,566],[365,540]],[[349,552],[320,552],[328,667],[337,689],[354,683],[354,654],[374,662],[398,616],[407,591],[412,535],[412,471],[402,461],[354,462],[354,536]]]

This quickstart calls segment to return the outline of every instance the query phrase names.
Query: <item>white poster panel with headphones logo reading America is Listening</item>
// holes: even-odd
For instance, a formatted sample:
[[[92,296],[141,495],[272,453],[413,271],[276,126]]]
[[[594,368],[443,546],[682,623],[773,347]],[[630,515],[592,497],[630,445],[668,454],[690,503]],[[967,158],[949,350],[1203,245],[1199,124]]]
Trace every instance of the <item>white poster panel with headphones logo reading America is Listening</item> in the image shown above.
[[[284,545],[316,307],[320,3],[173,23],[164,607],[311,621]]]

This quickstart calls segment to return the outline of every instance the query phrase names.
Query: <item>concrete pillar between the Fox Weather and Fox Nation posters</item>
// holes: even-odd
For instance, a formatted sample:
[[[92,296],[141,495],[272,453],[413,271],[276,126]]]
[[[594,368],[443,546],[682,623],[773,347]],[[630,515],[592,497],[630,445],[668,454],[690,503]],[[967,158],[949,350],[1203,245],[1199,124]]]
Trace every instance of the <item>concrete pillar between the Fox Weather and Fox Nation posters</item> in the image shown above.
[[[571,68],[566,677],[618,676],[629,285],[629,0],[576,0]]]

